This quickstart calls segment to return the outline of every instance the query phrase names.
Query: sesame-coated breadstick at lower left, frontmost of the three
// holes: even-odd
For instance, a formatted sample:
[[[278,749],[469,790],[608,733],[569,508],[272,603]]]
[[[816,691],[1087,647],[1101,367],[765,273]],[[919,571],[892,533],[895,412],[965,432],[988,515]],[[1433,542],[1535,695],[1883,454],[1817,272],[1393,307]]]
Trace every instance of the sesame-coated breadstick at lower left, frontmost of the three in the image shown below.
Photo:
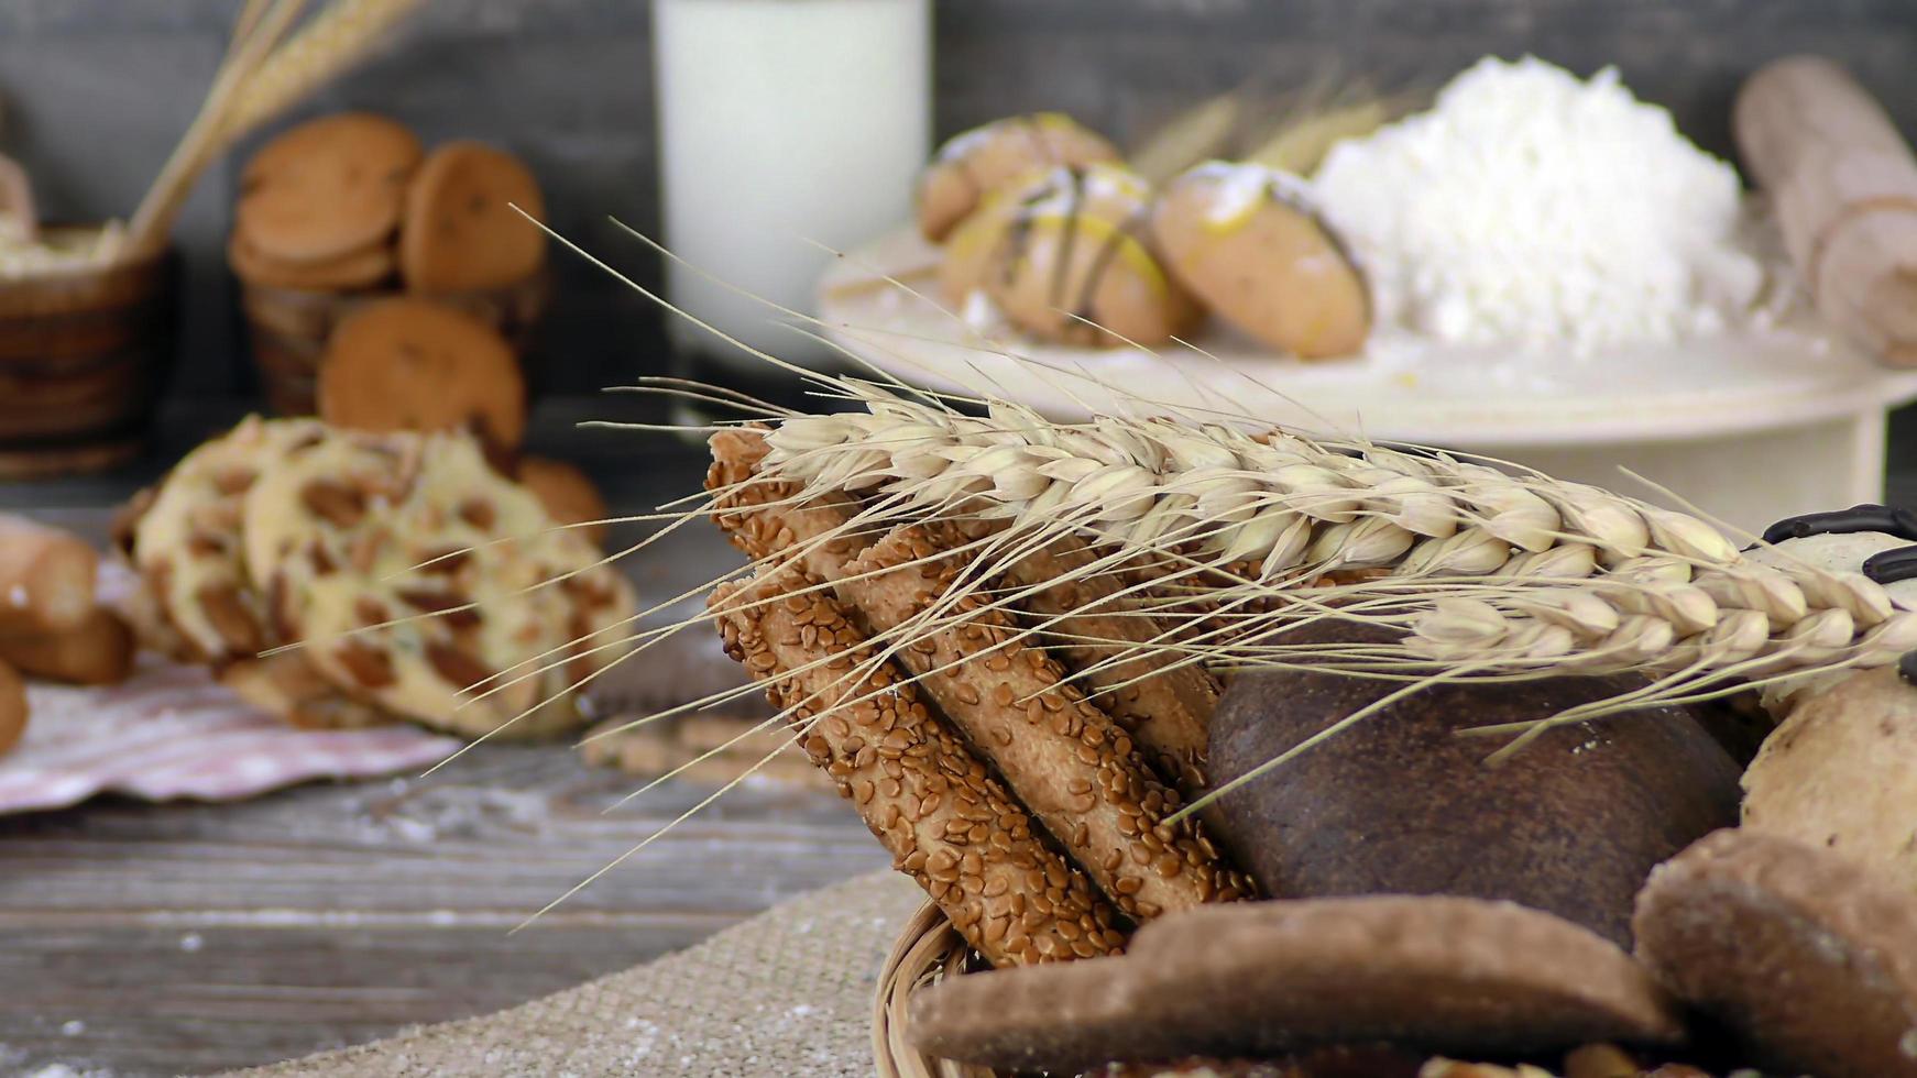
[[[1083,873],[1047,848],[1031,818],[943,720],[796,571],[725,584],[709,609],[727,653],[767,682],[815,764],[872,835],[993,965],[1116,954],[1125,936]],[[842,705],[836,707],[834,705]],[[817,720],[822,710],[834,714]]]

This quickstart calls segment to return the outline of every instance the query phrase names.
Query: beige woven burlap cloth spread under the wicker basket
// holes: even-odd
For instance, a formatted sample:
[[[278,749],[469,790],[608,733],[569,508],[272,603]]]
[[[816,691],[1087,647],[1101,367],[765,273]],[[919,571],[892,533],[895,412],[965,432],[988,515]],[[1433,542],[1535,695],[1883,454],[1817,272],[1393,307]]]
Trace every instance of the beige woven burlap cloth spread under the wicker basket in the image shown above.
[[[872,990],[920,902],[903,875],[863,875],[510,1011],[234,1078],[872,1074]]]

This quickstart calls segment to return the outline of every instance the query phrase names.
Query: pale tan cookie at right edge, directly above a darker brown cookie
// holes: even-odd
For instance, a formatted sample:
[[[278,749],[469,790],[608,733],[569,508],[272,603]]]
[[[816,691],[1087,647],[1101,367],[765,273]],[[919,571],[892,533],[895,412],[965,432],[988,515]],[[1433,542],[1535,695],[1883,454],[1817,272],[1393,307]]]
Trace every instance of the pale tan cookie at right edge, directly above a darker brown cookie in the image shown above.
[[[1896,666],[1800,693],[1743,785],[1744,829],[1852,858],[1917,898],[1917,685]]]

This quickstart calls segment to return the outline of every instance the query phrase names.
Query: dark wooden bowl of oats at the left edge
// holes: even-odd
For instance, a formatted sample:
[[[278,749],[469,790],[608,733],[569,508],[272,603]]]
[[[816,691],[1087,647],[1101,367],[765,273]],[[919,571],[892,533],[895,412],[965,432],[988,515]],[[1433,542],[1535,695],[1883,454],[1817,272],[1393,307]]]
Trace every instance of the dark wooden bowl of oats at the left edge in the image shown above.
[[[173,368],[174,281],[171,249],[0,281],[0,479],[138,454]]]

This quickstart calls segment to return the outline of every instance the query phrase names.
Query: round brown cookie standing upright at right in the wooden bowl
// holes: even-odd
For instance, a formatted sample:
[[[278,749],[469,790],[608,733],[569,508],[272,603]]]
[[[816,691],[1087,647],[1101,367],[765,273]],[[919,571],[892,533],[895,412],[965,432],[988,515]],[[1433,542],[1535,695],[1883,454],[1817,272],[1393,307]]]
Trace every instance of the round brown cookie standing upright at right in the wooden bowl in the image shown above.
[[[520,207],[520,209],[514,209]],[[525,280],[546,257],[539,182],[518,157],[483,142],[449,142],[406,190],[399,270],[424,293],[477,291]]]

